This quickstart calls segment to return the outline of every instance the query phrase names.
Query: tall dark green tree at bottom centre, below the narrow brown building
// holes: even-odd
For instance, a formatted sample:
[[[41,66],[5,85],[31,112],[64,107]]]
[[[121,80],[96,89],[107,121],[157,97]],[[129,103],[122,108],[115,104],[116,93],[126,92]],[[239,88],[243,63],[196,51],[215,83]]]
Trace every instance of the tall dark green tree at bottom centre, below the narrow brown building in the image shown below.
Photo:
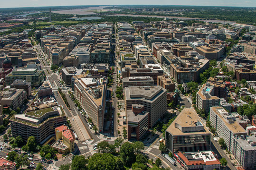
[[[130,144],[129,142],[124,143],[121,146],[120,157],[123,160],[125,166],[131,166],[135,161],[133,144]]]

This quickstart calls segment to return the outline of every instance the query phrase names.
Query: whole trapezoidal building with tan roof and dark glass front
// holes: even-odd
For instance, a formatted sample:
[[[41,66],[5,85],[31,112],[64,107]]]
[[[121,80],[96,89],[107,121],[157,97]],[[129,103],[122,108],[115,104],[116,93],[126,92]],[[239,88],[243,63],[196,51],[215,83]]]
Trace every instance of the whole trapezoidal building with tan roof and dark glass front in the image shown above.
[[[193,108],[184,108],[165,131],[172,153],[209,151],[210,143],[210,132]]]

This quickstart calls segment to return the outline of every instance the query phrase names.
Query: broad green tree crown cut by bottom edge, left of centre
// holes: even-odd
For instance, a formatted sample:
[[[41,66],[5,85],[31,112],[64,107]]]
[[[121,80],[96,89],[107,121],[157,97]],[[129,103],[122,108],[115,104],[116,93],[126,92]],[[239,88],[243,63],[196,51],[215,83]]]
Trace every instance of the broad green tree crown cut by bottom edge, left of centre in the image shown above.
[[[116,161],[110,153],[95,153],[88,162],[89,170],[115,170]]]

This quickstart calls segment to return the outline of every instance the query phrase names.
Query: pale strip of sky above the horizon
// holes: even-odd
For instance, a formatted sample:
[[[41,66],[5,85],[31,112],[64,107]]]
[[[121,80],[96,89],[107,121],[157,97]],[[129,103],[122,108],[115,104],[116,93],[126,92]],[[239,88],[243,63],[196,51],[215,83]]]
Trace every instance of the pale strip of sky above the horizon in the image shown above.
[[[0,8],[70,5],[199,5],[256,7],[256,0],[0,0]]]

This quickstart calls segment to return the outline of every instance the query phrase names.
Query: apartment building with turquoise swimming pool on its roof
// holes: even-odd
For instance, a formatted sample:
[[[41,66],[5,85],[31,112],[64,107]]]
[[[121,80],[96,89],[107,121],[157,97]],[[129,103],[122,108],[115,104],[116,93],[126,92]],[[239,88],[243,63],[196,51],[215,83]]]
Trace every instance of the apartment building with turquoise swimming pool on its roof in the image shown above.
[[[219,98],[214,95],[214,86],[209,83],[203,84],[197,92],[197,108],[205,110],[207,113],[210,107],[219,106]]]

